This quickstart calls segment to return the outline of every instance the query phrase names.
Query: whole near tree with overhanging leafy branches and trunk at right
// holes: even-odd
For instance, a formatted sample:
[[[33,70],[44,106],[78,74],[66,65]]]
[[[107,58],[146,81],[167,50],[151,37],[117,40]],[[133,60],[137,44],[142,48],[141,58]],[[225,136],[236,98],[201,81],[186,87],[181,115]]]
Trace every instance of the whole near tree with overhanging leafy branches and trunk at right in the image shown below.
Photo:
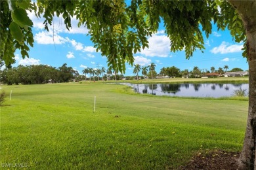
[[[87,27],[91,41],[108,59],[115,73],[125,71],[125,62],[133,64],[133,54],[148,47],[147,37],[156,33],[161,20],[171,41],[171,51],[183,50],[190,58],[195,50],[204,49],[203,33],[209,36],[212,24],[228,28],[236,42],[244,42],[243,56],[249,64],[249,114],[239,169],[256,169],[256,1],[0,1],[0,59],[14,63],[14,52],[28,57],[33,47],[33,22],[27,10],[45,18],[45,29],[53,16],[64,18],[67,29],[71,17]]]

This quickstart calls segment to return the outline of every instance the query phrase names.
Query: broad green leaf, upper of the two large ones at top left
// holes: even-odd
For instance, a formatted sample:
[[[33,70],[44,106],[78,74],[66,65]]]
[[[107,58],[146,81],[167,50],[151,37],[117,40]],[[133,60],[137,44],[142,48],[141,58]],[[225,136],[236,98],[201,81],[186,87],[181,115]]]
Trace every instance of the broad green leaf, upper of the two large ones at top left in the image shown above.
[[[12,20],[16,22],[16,24],[20,25],[20,27],[33,26],[32,20],[28,18],[28,14],[24,9],[16,9],[12,12]]]

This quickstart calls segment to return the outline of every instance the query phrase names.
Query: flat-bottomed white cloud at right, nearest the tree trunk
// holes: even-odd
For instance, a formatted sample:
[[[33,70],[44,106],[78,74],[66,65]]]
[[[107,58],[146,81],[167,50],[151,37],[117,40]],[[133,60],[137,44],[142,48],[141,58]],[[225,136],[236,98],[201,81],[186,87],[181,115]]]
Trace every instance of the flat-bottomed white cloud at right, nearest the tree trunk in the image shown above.
[[[213,49],[211,49],[211,53],[217,54],[227,54],[227,53],[233,53],[233,52],[242,52],[243,45],[242,44],[229,44],[228,42],[221,42],[220,46],[217,46]]]

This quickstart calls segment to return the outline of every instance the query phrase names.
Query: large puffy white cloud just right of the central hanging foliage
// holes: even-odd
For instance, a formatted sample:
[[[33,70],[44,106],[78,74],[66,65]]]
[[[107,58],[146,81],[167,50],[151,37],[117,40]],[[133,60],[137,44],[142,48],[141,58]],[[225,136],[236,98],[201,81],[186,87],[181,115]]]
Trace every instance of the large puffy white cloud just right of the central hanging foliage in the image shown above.
[[[162,57],[166,58],[170,53],[170,40],[166,35],[152,35],[148,38],[149,48],[141,49],[140,54],[149,57]]]

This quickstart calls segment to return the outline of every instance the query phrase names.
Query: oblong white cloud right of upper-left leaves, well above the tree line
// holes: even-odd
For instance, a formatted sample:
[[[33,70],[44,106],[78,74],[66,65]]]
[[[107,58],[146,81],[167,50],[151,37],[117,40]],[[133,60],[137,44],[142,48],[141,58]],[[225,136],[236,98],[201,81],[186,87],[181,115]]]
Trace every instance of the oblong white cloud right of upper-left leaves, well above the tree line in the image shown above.
[[[64,44],[67,40],[63,37],[60,37],[58,33],[41,31],[35,34],[35,42],[38,44]]]

